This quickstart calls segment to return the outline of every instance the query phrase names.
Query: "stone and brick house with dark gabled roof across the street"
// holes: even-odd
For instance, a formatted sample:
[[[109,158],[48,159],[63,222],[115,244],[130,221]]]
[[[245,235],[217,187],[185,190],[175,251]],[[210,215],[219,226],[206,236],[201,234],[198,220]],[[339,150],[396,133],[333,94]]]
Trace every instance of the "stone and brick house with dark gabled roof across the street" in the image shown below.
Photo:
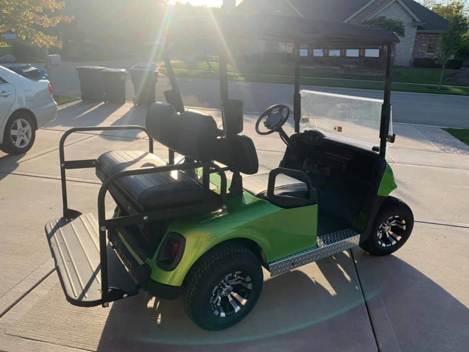
[[[237,13],[282,14],[361,24],[385,16],[402,20],[405,37],[396,45],[394,64],[411,66],[414,58],[435,58],[440,47],[440,34],[448,21],[414,0],[244,0]],[[265,48],[264,48],[265,49]],[[318,57],[377,57],[377,48],[303,48],[300,55]]]

